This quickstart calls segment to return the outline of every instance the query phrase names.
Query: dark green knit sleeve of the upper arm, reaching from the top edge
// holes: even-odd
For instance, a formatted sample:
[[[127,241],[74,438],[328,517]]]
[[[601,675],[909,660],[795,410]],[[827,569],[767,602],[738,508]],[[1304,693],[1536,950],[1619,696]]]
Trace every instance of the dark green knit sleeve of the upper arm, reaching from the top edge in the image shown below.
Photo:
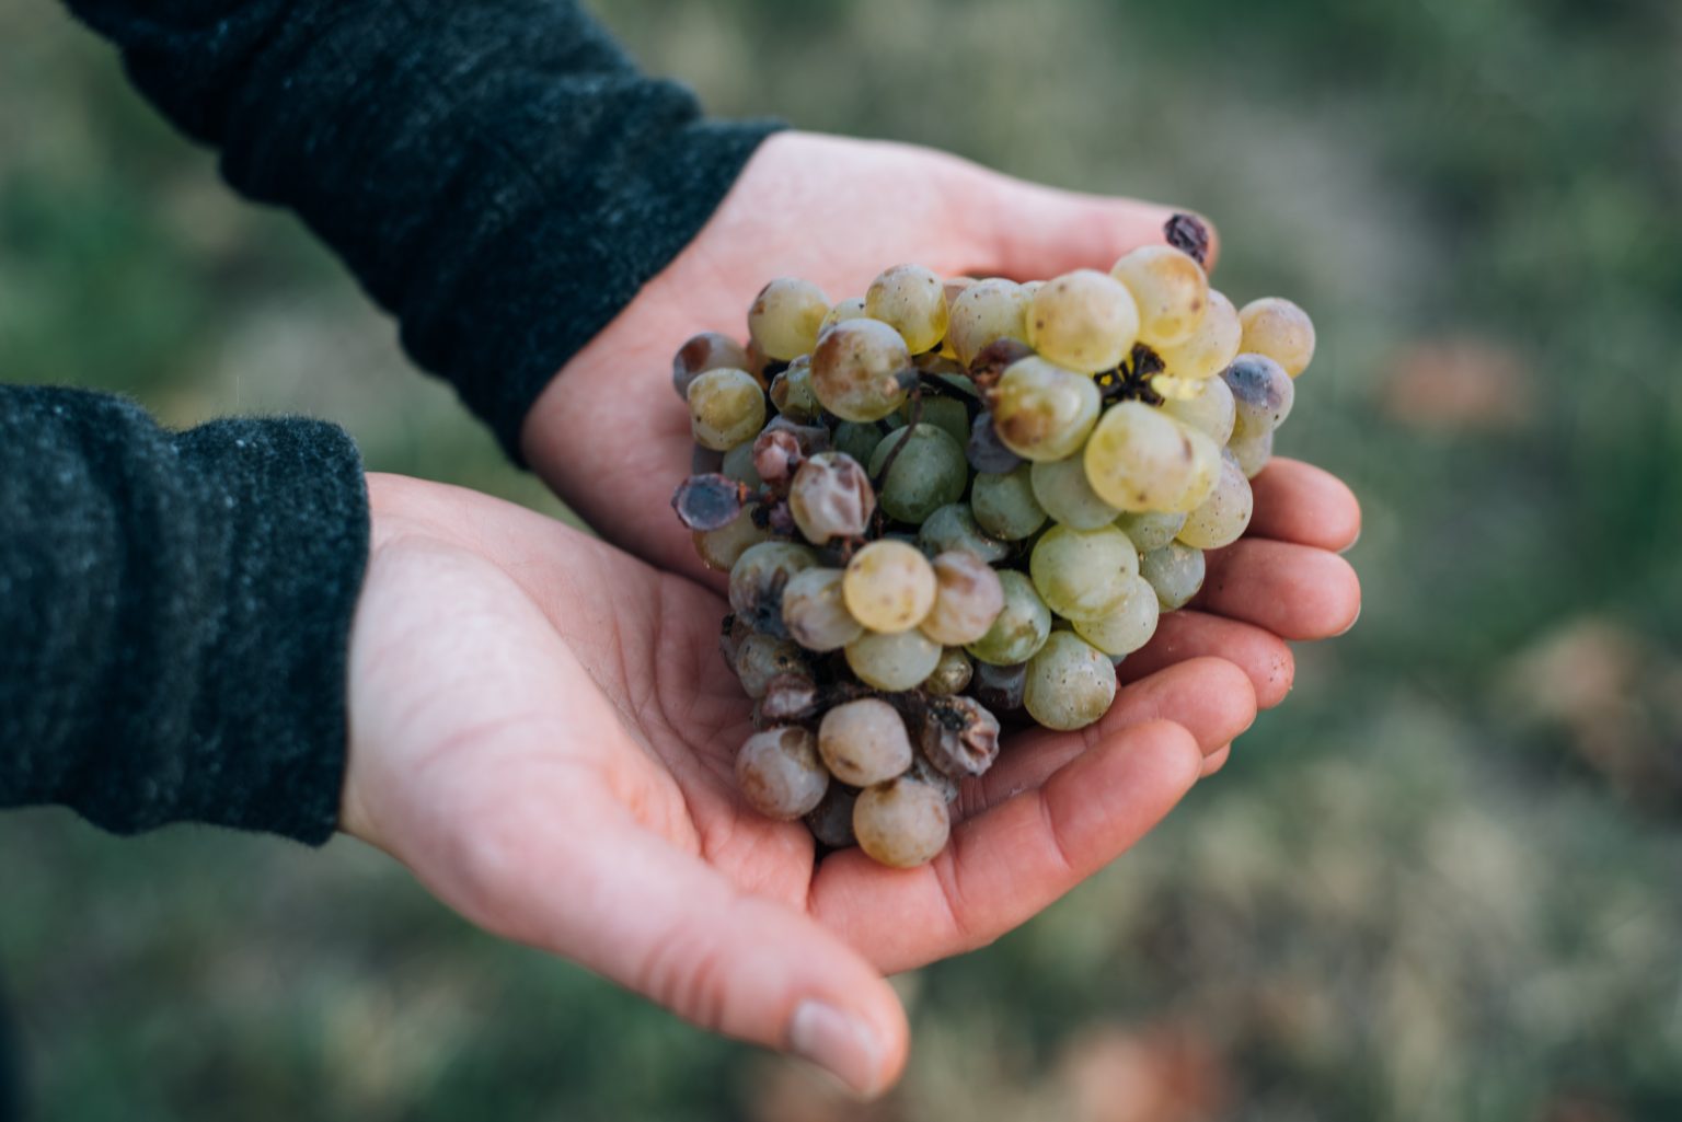
[[[294,210],[520,456],[532,402],[701,229],[770,121],[701,116],[570,0],[71,0]]]

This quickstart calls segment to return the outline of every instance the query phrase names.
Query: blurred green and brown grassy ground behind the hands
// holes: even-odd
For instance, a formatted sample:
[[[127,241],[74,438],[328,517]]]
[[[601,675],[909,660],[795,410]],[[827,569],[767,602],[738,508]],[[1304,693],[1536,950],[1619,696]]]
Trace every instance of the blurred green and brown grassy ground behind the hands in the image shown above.
[[[7,814],[40,1117],[1682,1119],[1682,8],[597,10],[723,114],[1214,215],[1223,288],[1319,321],[1282,446],[1366,503],[1361,626],[1135,853],[907,977],[870,1109],[357,844]],[[47,0],[0,5],[0,377],[308,410],[558,511]]]

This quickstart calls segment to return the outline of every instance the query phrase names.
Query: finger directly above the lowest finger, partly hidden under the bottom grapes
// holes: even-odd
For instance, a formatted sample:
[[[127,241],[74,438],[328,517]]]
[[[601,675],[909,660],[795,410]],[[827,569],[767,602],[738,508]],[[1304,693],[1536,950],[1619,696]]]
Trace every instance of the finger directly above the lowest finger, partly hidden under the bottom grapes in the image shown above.
[[[1095,725],[1078,732],[1033,728],[1013,737],[987,774],[962,784],[957,818],[976,818],[1038,787],[1076,755],[1129,725],[1171,720],[1189,732],[1208,755],[1231,744],[1255,718],[1255,688],[1238,666],[1223,658],[1177,663],[1122,688],[1115,705]]]

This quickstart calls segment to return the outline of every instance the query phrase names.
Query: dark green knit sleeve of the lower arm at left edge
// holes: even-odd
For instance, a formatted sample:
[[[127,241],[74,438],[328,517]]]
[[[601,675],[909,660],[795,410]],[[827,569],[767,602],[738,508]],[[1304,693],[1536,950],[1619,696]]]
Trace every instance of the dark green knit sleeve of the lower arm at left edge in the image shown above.
[[[335,426],[0,387],[0,807],[325,841],[368,552]]]

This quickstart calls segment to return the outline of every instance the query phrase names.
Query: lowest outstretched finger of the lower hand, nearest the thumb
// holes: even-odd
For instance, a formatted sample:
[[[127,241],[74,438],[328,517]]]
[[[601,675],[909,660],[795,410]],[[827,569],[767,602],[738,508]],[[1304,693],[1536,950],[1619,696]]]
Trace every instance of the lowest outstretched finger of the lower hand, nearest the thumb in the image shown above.
[[[1179,725],[1122,728],[1041,787],[955,826],[928,865],[890,870],[858,849],[831,855],[812,910],[885,971],[986,945],[1144,838],[1201,764]]]

